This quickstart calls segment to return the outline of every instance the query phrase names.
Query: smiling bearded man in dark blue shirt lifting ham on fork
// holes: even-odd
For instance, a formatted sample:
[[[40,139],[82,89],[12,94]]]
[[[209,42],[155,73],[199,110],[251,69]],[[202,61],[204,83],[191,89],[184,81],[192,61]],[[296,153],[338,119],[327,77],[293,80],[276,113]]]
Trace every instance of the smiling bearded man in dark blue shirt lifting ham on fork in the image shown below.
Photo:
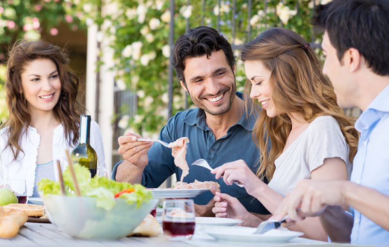
[[[172,142],[188,137],[186,161],[206,159],[212,168],[236,159],[244,159],[255,174],[260,152],[252,138],[256,113],[246,114],[244,95],[236,92],[235,58],[230,43],[215,29],[200,26],[181,35],[175,44],[173,66],[182,88],[198,107],[178,112],[169,119],[159,140]],[[248,109],[250,112],[250,109]],[[157,188],[169,176],[182,170],[174,164],[171,150],[152,142],[137,141],[141,136],[127,133],[119,137],[119,153],[124,161],[115,165],[112,178]],[[223,193],[239,199],[249,212],[267,214],[267,210],[244,188],[227,186],[222,179],[199,166],[189,167],[184,182],[217,181]],[[212,188],[214,193],[216,188]],[[211,192],[194,198],[197,215],[213,215]]]

